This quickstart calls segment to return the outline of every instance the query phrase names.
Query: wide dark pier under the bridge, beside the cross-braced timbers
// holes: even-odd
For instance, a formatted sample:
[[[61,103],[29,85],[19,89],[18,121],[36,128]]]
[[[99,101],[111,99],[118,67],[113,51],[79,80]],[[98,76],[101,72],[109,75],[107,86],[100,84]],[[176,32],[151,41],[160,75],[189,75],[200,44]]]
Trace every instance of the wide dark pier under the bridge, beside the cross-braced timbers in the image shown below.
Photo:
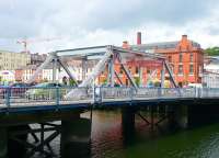
[[[87,158],[90,155],[91,121],[89,119],[68,119],[61,121],[61,157]]]

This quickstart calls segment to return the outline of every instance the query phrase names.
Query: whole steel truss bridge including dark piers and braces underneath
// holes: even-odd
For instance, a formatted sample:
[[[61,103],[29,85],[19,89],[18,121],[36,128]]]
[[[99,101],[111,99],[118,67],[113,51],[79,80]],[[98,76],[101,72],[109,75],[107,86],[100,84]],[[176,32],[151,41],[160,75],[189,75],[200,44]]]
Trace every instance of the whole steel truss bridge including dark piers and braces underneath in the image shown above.
[[[77,81],[74,74],[68,66],[69,58],[82,63],[83,79],[81,83]],[[85,76],[89,60],[94,61],[95,65],[92,72]],[[155,68],[159,67],[161,70],[160,87],[146,88],[141,83],[137,84],[135,75],[128,70],[127,64],[139,66],[140,80],[142,79],[142,68],[152,68],[150,74],[152,77],[157,72]],[[122,124],[124,124],[126,132],[130,132],[129,128],[135,128],[135,114],[138,114],[151,127],[165,120],[184,126],[193,121],[206,119],[206,114],[208,114],[207,119],[210,120],[219,117],[217,113],[219,110],[217,105],[219,89],[177,88],[168,61],[158,54],[123,49],[111,45],[57,50],[49,54],[26,82],[33,82],[39,72],[49,65],[53,65],[54,82],[57,82],[57,69],[62,67],[69,78],[74,80],[76,86],[0,88],[0,156],[9,158],[14,157],[13,154],[21,156],[23,154],[19,154],[19,151],[26,149],[25,158],[32,157],[35,153],[50,156],[53,155],[50,142],[61,134],[61,157],[72,157],[72,155],[66,156],[66,153],[71,151],[71,148],[68,148],[69,144],[81,144],[82,140],[85,145],[90,145],[92,109],[94,106],[122,108]],[[119,65],[125,72],[128,86],[124,86],[115,65]],[[96,82],[104,71],[107,71],[106,86]],[[172,88],[168,89],[164,88],[166,74],[172,83]],[[119,87],[115,86],[115,80],[118,81]],[[173,104],[174,106],[172,106]],[[134,110],[134,108],[139,106],[148,108],[149,119],[142,116],[138,112],[139,109]],[[157,108],[158,111],[155,111]],[[91,119],[80,117],[84,110],[91,110]],[[184,122],[185,111],[187,115]],[[160,114],[157,122],[153,120],[155,112]],[[61,121],[61,125],[54,123],[54,121]],[[30,126],[30,124],[36,123],[39,124],[39,127],[32,128]],[[83,128],[74,131],[76,124]],[[88,132],[84,131],[84,127]],[[48,137],[45,137],[46,132],[50,133]],[[36,135],[38,133],[39,136]],[[28,143],[28,134],[34,137],[35,143]],[[15,153],[13,147],[16,149]],[[45,150],[45,147],[49,150]],[[12,156],[9,156],[10,154]]]

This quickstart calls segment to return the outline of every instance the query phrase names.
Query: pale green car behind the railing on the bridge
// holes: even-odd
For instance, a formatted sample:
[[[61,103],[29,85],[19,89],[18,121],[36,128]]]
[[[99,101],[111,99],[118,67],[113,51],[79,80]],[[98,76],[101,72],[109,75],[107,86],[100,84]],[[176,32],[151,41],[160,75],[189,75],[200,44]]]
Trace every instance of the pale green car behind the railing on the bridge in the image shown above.
[[[65,87],[60,83],[43,82],[30,88],[25,95],[28,99],[55,99],[57,97],[56,88]],[[59,89],[59,97],[66,93],[66,89]]]

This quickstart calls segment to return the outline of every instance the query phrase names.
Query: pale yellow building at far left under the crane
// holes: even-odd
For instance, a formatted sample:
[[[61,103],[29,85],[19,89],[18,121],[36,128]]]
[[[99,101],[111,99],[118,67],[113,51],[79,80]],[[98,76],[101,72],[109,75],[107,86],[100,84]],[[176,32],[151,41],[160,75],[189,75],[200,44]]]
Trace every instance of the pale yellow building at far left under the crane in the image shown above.
[[[0,50],[0,70],[15,70],[31,63],[31,54]]]

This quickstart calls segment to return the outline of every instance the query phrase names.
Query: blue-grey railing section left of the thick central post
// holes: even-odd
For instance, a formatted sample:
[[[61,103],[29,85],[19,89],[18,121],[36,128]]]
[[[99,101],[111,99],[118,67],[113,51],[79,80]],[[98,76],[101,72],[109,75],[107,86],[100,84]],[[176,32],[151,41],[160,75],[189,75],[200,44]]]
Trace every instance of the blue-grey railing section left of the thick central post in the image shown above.
[[[72,89],[72,98],[66,98]],[[0,88],[0,108],[61,105],[71,102],[93,101],[92,88],[76,87],[22,87]]]

